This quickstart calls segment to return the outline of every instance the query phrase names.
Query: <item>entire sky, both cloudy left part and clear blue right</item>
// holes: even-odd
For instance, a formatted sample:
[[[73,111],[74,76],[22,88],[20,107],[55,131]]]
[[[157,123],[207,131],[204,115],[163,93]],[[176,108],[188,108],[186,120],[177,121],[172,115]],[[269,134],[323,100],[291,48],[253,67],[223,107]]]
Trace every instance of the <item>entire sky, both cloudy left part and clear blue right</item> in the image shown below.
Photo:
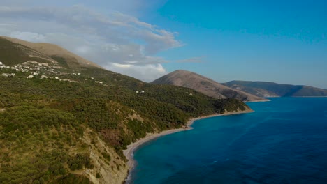
[[[183,69],[217,82],[239,79],[327,89],[326,1],[1,4],[1,35],[56,43],[147,82]]]

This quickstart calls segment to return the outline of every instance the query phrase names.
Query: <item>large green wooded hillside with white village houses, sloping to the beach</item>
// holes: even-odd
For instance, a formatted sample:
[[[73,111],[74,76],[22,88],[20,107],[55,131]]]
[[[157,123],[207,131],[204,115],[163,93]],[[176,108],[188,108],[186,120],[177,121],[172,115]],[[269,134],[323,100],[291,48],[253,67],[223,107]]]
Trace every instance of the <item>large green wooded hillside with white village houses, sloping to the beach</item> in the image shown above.
[[[104,70],[57,45],[2,37],[0,62],[0,183],[122,183],[123,150],[148,132],[249,109]]]

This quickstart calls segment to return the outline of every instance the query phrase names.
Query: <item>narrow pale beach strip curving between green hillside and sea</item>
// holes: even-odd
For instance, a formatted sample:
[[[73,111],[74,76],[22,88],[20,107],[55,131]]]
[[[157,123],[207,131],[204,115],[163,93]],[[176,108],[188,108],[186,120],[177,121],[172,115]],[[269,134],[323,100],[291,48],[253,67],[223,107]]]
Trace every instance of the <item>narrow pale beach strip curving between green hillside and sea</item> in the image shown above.
[[[173,134],[175,132],[191,130],[191,129],[193,129],[193,128],[191,128],[191,125],[194,123],[194,121],[197,121],[197,120],[200,120],[200,119],[211,118],[211,117],[216,117],[216,116],[228,116],[228,115],[234,115],[234,114],[245,114],[245,113],[250,113],[250,112],[254,112],[254,111],[252,109],[246,109],[246,110],[240,111],[240,112],[226,112],[224,114],[212,114],[212,115],[208,115],[208,116],[200,116],[200,117],[197,117],[197,118],[189,119],[189,121],[187,121],[187,125],[184,128],[165,130],[165,131],[159,132],[159,133],[147,133],[147,135],[145,137],[143,137],[142,139],[139,139],[136,142],[133,142],[132,144],[129,144],[127,146],[127,149],[123,151],[125,157],[127,158],[127,160],[129,160],[127,162],[127,166],[129,167],[129,174],[126,177],[124,183],[128,183],[128,181],[130,179],[130,176],[131,176],[131,171],[133,170],[133,168],[135,167],[135,164],[136,164],[136,162],[134,160],[134,151],[136,151],[140,146],[145,144],[147,141],[151,141],[151,140],[156,139],[157,137],[161,137],[163,135],[169,135],[169,134]]]

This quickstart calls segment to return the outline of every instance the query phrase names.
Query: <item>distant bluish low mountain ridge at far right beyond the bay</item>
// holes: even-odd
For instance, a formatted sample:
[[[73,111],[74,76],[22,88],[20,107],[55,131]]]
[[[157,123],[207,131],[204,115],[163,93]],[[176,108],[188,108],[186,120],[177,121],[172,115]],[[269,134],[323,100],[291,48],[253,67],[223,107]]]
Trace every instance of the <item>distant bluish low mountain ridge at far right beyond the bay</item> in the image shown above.
[[[311,86],[277,84],[274,82],[231,81],[224,83],[224,85],[261,97],[327,96],[326,89],[319,89]]]

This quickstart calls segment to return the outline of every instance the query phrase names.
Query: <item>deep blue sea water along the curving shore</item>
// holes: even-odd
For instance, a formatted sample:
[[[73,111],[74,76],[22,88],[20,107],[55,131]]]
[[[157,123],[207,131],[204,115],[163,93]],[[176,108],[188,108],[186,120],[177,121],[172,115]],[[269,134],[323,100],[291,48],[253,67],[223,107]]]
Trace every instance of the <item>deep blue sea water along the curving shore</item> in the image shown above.
[[[271,98],[136,151],[133,183],[327,183],[327,98]]]

